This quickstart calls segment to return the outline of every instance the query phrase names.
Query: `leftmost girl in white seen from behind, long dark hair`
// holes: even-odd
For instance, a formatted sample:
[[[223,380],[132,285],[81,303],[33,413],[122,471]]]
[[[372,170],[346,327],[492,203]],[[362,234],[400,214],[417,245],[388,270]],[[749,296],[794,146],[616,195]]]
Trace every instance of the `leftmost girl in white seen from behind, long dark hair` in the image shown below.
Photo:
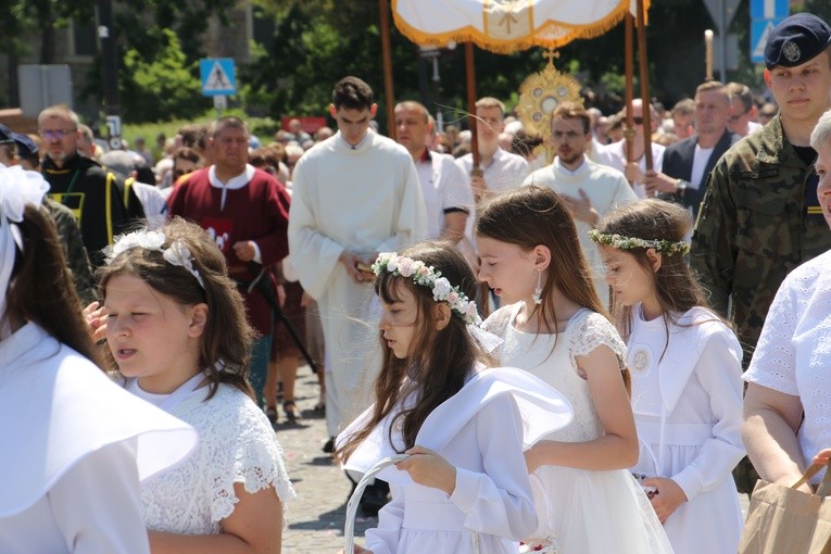
[[[0,165],[0,552],[147,554],[139,480],[197,433],[103,372],[47,190]]]

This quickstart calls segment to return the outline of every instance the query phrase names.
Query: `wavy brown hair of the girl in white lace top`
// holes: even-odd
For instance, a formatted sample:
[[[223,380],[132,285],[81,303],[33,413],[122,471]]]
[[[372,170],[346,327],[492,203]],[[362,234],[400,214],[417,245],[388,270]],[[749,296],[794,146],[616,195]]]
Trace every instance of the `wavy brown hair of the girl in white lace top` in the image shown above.
[[[193,268],[199,272],[204,289],[186,268],[164,260],[162,252],[134,248],[122,252],[109,265],[101,266],[96,276],[102,299],[106,299],[106,284],[116,275],[135,275],[147,285],[181,305],[207,304],[207,320],[200,342],[199,363],[210,380],[212,398],[221,382],[230,385],[253,398],[248,381],[251,343],[254,330],[245,318],[242,295],[228,277],[225,256],[201,227],[174,217],[159,229],[166,239],[163,248],[174,241],[188,247]],[[117,370],[111,357],[113,369]]]

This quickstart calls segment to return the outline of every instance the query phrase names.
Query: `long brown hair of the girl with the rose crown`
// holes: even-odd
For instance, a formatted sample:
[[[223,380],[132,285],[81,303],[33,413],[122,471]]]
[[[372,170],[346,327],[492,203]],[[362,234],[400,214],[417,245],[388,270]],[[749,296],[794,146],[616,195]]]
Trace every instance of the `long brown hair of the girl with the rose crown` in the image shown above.
[[[476,279],[470,266],[450,243],[423,242],[406,249],[401,255],[420,260],[435,267],[469,299],[475,297]],[[462,389],[474,364],[482,362],[490,365],[492,362],[476,347],[467,332],[467,325],[457,314],[454,313],[449,325],[441,330],[430,324],[436,309],[430,288],[414,284],[412,278],[387,272],[376,277],[374,287],[376,294],[389,304],[399,301],[405,288],[413,293],[417,305],[416,333],[411,354],[405,360],[399,360],[379,331],[383,362],[375,380],[375,407],[366,425],[350,436],[345,444],[335,453],[340,462],[345,462],[372,430],[411,392],[417,394],[415,405],[394,416],[388,440],[392,444],[393,429],[400,427],[404,449],[412,448],[427,416]]]

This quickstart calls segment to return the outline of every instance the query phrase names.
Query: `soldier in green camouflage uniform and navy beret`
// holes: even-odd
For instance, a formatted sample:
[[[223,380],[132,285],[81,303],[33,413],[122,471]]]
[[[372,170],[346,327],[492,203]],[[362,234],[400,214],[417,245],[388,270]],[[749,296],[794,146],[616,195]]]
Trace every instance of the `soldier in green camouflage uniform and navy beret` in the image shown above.
[[[765,63],[780,113],[716,164],[690,256],[713,306],[735,325],[744,367],[788,273],[831,248],[810,148],[831,108],[831,28],[807,13],[785,18],[768,37]],[[745,458],[734,471],[740,490],[752,491],[752,469]]]

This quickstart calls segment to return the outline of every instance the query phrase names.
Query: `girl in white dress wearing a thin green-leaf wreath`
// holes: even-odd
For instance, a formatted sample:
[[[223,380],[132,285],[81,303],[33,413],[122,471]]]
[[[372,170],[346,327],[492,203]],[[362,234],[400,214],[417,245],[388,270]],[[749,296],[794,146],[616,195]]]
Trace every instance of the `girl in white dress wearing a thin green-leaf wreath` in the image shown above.
[[[690,275],[689,212],[643,200],[592,231],[629,349],[641,439],[633,467],[676,553],[732,554],[742,512],[732,469],[744,456],[742,349]]]

